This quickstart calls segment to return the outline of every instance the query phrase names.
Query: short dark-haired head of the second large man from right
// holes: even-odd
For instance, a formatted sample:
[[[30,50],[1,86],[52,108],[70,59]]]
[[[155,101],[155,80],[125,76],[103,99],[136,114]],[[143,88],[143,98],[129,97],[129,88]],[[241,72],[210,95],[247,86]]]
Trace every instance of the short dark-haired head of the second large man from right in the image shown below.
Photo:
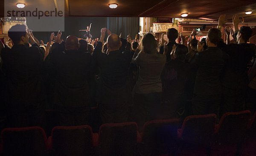
[[[207,46],[217,46],[221,41],[221,31],[217,28],[209,29],[206,37]]]

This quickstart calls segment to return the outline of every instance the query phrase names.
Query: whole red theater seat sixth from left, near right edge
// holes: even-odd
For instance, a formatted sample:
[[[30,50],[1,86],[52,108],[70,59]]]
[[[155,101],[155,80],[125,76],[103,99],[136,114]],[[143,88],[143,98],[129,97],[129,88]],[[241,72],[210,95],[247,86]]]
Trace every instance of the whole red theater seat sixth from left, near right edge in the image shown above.
[[[212,145],[212,156],[234,156],[238,154],[239,144],[244,140],[250,111],[225,113],[216,125],[215,144]]]

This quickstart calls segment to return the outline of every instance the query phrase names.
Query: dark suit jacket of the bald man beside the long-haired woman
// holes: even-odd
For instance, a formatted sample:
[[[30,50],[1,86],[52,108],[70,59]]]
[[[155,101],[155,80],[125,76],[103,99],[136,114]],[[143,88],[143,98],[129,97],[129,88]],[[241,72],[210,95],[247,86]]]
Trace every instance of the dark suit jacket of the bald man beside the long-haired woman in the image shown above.
[[[120,50],[109,54],[102,52],[102,43],[98,42],[93,57],[100,68],[98,100],[108,106],[118,107],[131,99],[128,69],[131,52]]]

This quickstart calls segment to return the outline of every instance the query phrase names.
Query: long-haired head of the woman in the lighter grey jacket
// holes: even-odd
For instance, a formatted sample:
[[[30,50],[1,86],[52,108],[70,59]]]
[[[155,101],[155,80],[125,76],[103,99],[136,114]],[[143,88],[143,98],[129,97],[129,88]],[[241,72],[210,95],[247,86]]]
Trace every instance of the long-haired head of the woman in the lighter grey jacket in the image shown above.
[[[141,39],[141,42],[142,42],[143,51],[145,53],[150,54],[152,52],[155,52],[155,50],[157,50],[158,45],[156,40],[154,39],[154,35],[150,33],[145,34]]]

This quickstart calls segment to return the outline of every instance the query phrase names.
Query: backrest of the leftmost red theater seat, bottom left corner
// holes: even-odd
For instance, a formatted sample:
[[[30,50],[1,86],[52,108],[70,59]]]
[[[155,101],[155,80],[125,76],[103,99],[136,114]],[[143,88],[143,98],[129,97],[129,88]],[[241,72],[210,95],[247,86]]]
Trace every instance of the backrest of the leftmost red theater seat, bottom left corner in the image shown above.
[[[6,128],[1,133],[3,153],[10,156],[45,156],[47,136],[41,127]]]

